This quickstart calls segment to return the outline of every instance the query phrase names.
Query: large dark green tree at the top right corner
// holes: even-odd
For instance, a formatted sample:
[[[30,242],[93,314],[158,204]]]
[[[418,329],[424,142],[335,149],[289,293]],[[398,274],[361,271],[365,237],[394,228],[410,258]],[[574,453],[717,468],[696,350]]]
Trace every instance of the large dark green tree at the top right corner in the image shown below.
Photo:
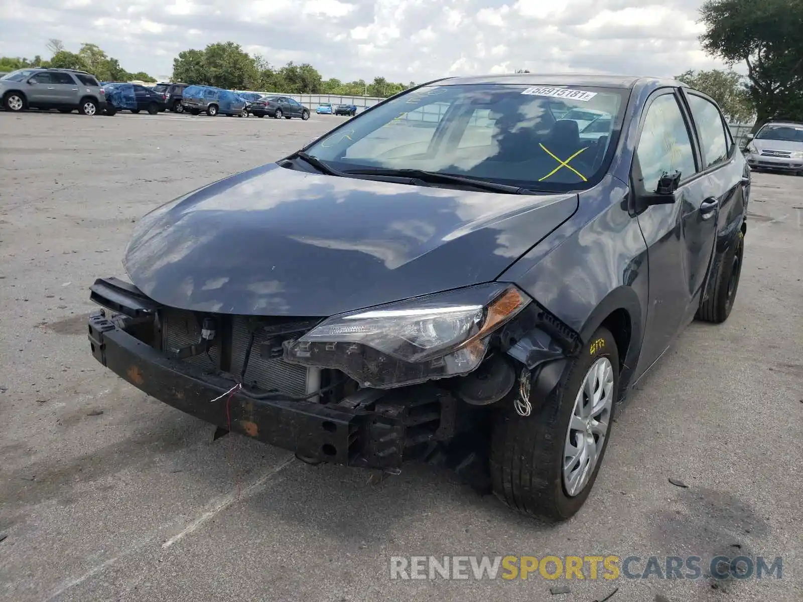
[[[803,120],[803,2],[707,0],[700,13],[703,48],[747,66],[756,127],[773,117]]]

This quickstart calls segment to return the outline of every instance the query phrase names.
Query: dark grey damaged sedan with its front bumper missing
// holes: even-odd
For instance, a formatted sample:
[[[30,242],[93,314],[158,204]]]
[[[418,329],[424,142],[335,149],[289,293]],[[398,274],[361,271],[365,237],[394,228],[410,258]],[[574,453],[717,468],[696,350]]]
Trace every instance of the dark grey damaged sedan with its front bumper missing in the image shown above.
[[[306,462],[442,457],[566,519],[618,403],[731,313],[749,194],[719,108],[678,81],[441,79],[147,214],[133,284],[92,287],[92,354]]]

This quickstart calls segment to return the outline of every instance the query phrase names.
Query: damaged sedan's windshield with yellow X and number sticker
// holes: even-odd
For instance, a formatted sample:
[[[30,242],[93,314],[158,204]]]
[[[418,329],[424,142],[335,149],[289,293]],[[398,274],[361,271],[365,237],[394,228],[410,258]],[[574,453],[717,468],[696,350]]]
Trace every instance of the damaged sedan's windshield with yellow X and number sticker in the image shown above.
[[[339,171],[423,169],[528,189],[577,189],[605,173],[628,94],[602,87],[421,87],[361,113],[306,151]],[[610,136],[581,138],[582,124],[559,118],[573,108],[613,116]]]

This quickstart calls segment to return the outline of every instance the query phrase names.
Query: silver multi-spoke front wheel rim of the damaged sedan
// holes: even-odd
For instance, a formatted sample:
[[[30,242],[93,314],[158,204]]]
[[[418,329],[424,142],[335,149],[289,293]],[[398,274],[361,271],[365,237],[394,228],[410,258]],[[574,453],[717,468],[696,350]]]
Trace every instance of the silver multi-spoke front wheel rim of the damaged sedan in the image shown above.
[[[588,484],[605,444],[613,409],[613,367],[594,362],[577,392],[563,452],[563,485],[573,498]]]

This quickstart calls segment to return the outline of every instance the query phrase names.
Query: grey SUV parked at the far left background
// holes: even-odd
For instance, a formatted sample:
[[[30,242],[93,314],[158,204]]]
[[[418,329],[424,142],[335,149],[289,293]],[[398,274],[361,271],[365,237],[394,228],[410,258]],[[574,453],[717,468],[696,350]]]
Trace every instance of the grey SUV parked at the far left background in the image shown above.
[[[18,69],[0,78],[0,98],[6,111],[57,108],[68,113],[97,115],[106,97],[95,76],[75,69]]]

